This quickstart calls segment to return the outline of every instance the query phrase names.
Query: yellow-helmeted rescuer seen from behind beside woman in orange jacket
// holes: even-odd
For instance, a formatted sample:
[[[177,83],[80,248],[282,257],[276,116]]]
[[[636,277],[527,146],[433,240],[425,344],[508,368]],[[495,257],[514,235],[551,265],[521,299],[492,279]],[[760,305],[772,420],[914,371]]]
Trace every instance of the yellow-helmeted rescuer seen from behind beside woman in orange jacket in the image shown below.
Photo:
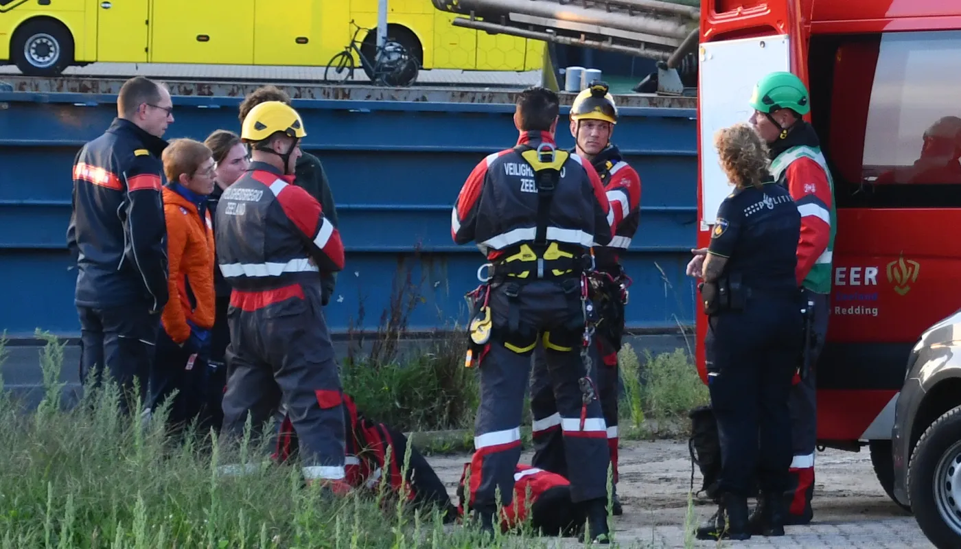
[[[291,185],[300,114],[268,101],[244,119],[248,171],[220,197],[217,262],[233,287],[228,322],[225,434],[242,436],[286,408],[308,483],[344,490],[344,415],[321,306],[322,273],[344,267],[340,234],[320,203]]]

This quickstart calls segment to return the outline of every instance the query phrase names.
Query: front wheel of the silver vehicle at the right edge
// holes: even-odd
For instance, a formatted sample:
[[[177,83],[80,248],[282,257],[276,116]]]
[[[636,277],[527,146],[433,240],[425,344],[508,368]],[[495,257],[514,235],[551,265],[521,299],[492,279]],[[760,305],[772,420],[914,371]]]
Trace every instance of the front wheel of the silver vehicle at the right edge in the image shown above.
[[[961,547],[961,406],[918,440],[907,467],[915,520],[936,547]]]

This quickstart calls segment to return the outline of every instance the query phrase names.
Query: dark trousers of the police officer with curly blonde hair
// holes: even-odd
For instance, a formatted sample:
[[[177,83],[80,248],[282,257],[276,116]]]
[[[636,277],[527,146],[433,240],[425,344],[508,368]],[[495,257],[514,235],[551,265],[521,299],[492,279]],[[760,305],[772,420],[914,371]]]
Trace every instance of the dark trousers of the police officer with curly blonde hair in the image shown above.
[[[801,302],[792,296],[755,296],[744,311],[720,312],[708,321],[704,350],[721,441],[720,493],[754,495],[755,470],[762,490],[789,487],[788,397],[801,330]]]

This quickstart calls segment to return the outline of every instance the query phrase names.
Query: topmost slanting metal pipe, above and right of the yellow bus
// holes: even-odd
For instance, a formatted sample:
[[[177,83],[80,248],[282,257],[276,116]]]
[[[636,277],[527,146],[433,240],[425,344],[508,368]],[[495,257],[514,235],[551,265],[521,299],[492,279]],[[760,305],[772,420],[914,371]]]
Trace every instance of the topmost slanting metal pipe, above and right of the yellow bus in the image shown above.
[[[607,12],[601,9],[590,9],[574,4],[558,4],[545,0],[527,1],[516,0],[459,0],[456,5],[445,5],[444,0],[434,0],[434,7],[444,6],[445,12],[477,14],[490,17],[490,13],[507,14],[511,12],[549,17],[561,21],[573,21],[647,33],[658,37],[673,37],[682,40],[688,35],[687,26],[676,20],[665,20],[643,15],[630,16],[625,12]],[[691,21],[693,23],[694,21]]]

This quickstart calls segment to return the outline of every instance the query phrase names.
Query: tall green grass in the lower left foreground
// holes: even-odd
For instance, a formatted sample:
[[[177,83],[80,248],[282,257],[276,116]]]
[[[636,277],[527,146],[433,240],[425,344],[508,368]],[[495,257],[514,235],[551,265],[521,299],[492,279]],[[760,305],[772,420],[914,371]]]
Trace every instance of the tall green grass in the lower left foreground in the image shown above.
[[[218,475],[221,464],[263,462],[265,441],[249,431],[238,445],[188,432],[185,443],[174,444],[165,410],[147,420],[119,415],[110,382],[85,387],[79,406],[63,410],[56,380],[65,343],[39,337],[47,340],[47,384],[36,412],[23,413],[0,388],[3,549],[484,546],[471,525],[445,526],[437,512],[413,512],[373,492],[325,498],[302,486],[294,466],[267,462],[249,475]],[[554,543],[526,528],[486,546]]]

